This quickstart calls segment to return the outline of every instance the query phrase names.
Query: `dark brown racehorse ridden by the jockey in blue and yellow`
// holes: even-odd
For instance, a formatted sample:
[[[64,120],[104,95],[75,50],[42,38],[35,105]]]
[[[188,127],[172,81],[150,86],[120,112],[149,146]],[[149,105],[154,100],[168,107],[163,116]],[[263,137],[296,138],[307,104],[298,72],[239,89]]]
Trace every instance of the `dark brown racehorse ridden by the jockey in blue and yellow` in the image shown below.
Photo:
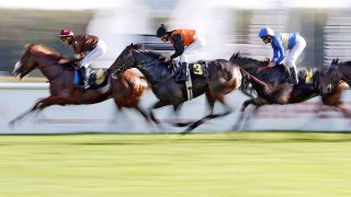
[[[247,83],[251,83],[258,94],[257,96],[251,94],[252,97],[244,102],[241,112],[250,104],[256,106],[254,113],[257,113],[262,105],[301,103],[320,95],[324,105],[338,107],[344,116],[350,116],[340,101],[341,94],[347,88],[346,83],[337,83],[328,93],[320,91],[327,86],[322,83],[326,80],[325,69],[301,71],[298,73],[299,83],[293,85],[286,82],[285,69],[281,66],[267,69],[265,61],[241,57],[239,53],[233,55],[229,60],[246,71],[244,72],[246,80],[244,80],[242,86],[248,88]],[[239,119],[239,121],[241,120]]]

